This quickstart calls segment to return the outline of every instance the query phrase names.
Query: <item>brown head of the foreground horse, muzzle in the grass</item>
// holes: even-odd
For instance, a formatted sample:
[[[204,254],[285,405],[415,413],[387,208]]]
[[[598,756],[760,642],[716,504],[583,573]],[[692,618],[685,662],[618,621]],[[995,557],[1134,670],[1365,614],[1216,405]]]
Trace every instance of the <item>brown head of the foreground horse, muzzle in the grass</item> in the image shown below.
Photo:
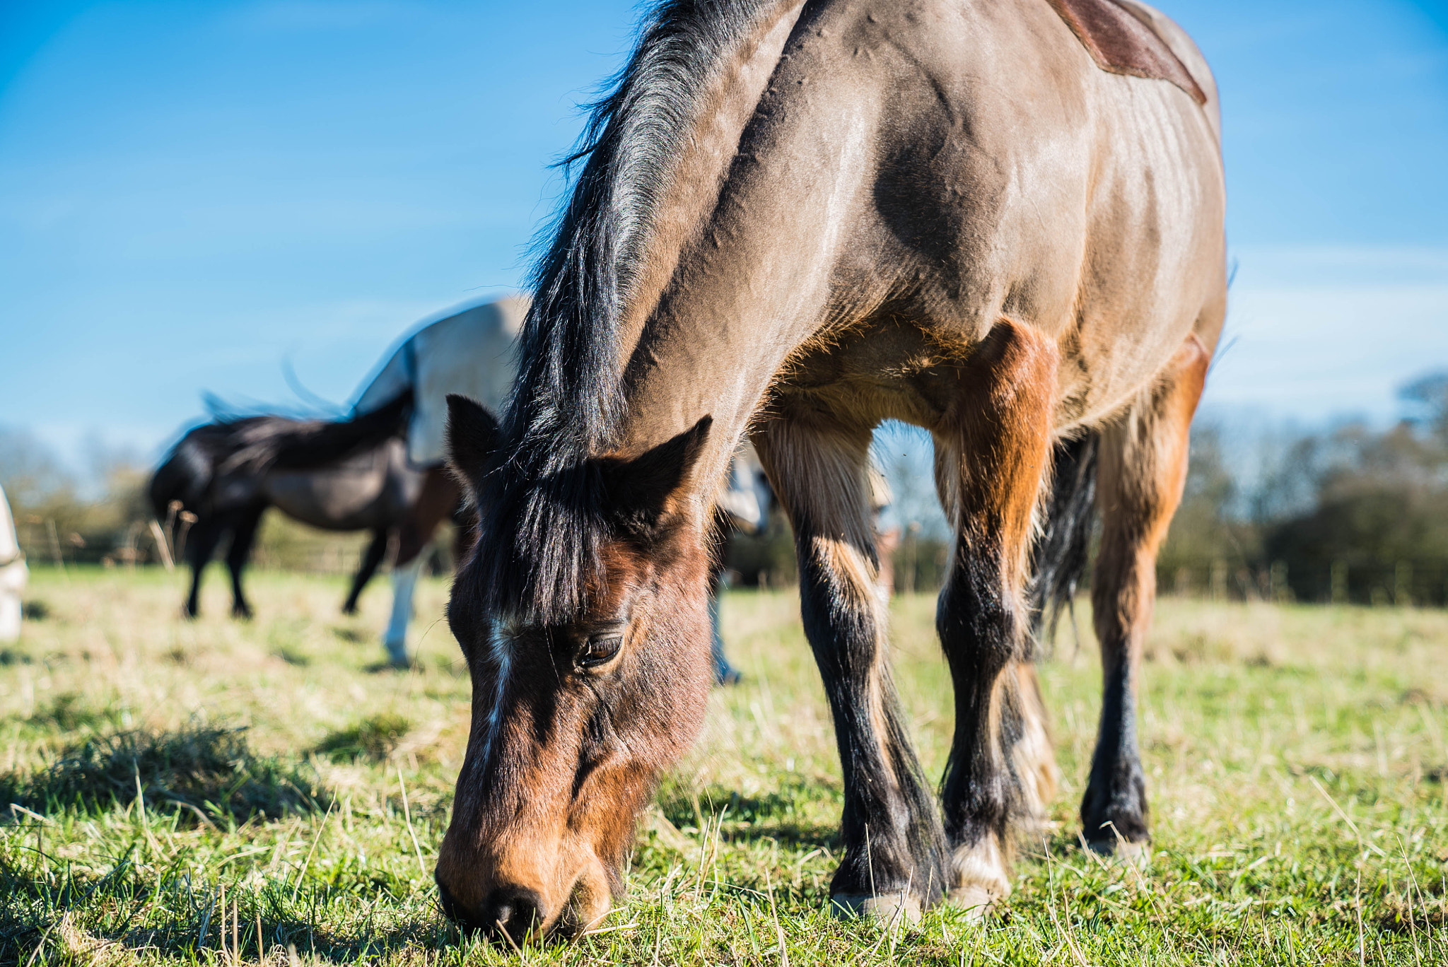
[[[485,413],[449,407],[450,459],[476,497]],[[637,815],[698,734],[711,682],[707,518],[689,495],[708,430],[705,417],[643,455],[591,459],[607,511],[566,609],[540,614],[487,585],[533,566],[543,549],[530,540],[578,536],[529,537],[526,511],[484,501],[447,608],[473,699],[436,870],[445,911],[468,928],[576,934],[623,892]]]

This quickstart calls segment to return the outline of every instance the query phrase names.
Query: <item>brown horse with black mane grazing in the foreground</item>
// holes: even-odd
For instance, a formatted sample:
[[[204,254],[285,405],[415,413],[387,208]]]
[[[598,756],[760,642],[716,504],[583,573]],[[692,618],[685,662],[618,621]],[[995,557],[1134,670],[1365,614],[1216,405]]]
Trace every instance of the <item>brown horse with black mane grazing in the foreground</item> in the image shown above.
[[[597,107],[536,276],[449,620],[472,731],[436,879],[465,925],[598,924],[710,685],[708,525],[747,433],[786,508],[844,776],[843,913],[1009,890],[1053,793],[1028,595],[1095,486],[1105,701],[1082,802],[1142,850],[1154,557],[1225,313],[1215,85],[1134,0],[672,0]],[[872,428],[925,427],[956,540],[940,801],[891,685]],[[1053,495],[1051,486],[1056,483]],[[1040,533],[1040,539],[1035,534]],[[1032,553],[1032,546],[1035,552]]]

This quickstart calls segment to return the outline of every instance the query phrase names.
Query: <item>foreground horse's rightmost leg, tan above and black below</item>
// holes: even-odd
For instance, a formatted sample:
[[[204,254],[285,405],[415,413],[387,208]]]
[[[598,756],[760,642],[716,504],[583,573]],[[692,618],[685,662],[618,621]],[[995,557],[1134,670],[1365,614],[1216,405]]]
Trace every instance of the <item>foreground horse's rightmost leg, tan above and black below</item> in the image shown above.
[[[1182,501],[1192,415],[1211,355],[1192,336],[1164,373],[1102,430],[1096,507],[1100,550],[1092,612],[1100,641],[1102,709],[1082,799],[1086,843],[1145,856],[1147,787],[1137,744],[1137,677],[1157,592],[1157,549]]]

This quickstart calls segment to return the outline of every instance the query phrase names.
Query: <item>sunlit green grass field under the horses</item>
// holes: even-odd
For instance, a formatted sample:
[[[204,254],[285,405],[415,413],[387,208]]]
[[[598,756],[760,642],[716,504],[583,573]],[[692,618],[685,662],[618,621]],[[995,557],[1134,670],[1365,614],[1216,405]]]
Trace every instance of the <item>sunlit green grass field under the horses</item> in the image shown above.
[[[446,585],[420,588],[401,673],[375,664],[381,585],[345,620],[342,579],[255,573],[252,622],[222,585],[184,622],[180,575],[33,575],[46,614],[0,650],[0,963],[1448,963],[1441,611],[1164,599],[1145,870],[1076,845],[1098,685],[1067,628],[1041,669],[1064,783],[1015,893],[983,928],[940,909],[886,931],[824,913],[840,779],[796,602],[731,592],[747,680],[646,816],[627,905],[517,951],[434,905],[469,699]],[[933,604],[896,601],[893,640],[938,776]]]

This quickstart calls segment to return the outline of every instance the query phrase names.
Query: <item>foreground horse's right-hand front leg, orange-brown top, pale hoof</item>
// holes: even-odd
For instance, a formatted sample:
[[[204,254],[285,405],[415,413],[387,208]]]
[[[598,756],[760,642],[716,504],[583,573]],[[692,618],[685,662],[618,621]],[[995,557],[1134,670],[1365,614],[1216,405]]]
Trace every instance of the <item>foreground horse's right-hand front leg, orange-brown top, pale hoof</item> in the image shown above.
[[[1056,787],[1025,588],[1057,359],[1054,343],[1002,321],[934,430],[935,482],[956,527],[935,617],[956,692],[941,783],[950,896],[977,913],[1009,893],[1012,832],[1038,821]]]

